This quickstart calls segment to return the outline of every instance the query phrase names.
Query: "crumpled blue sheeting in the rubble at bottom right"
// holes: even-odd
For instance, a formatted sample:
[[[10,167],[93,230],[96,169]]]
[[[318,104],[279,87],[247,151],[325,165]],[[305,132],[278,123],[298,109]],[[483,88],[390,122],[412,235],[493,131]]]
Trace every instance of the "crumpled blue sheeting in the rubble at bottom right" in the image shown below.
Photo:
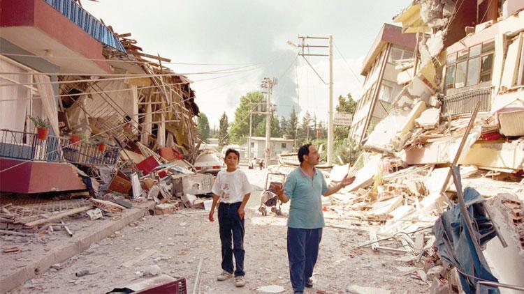
[[[481,246],[485,245],[497,235],[483,206],[485,200],[475,189],[467,187],[464,189],[464,201],[470,219],[474,221],[474,240],[479,240]],[[460,207],[456,205],[440,215],[433,226],[433,233],[439,256],[455,265],[459,270],[460,284],[465,293],[473,294],[478,281],[498,283],[498,280],[491,274],[482,252],[476,251],[474,242],[477,241],[472,240],[466,224],[465,217],[460,213]],[[500,293],[500,291],[495,289],[490,290],[489,293]]]

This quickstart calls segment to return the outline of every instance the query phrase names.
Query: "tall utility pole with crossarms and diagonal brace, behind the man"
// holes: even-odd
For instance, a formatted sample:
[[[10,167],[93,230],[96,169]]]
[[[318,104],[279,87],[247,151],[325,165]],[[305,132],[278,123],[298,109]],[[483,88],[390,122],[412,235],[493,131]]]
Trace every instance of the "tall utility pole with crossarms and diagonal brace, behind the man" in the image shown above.
[[[303,56],[308,65],[313,69],[316,75],[321,81],[329,86],[329,111],[328,111],[328,164],[333,164],[333,36],[329,37],[310,37],[310,36],[298,36],[300,40],[299,45],[296,47],[302,48],[298,55]],[[306,40],[318,39],[328,40],[329,45],[310,45],[306,43]],[[292,42],[288,41],[288,44],[293,45]],[[329,54],[310,54],[311,48],[328,48]],[[307,49],[307,52],[305,51]],[[329,81],[326,82],[322,79],[321,75],[313,68],[313,65],[308,61],[305,56],[328,56],[329,57]]]

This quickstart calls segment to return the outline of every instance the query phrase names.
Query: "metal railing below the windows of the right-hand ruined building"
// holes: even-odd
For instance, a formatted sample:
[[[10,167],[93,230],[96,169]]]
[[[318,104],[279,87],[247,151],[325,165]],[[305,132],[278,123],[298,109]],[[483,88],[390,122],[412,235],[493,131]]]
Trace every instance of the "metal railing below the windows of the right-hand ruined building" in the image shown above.
[[[476,88],[444,97],[440,113],[442,116],[471,114],[477,101],[481,102],[479,111],[490,111],[491,87]]]

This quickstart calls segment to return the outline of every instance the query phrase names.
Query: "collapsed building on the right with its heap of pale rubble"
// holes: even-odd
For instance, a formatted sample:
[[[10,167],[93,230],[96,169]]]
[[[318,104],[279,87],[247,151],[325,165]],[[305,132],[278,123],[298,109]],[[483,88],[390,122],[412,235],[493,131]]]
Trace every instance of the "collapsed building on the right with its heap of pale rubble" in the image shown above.
[[[393,21],[415,36],[414,54],[393,60],[400,90],[379,109],[390,81],[367,74],[371,57],[379,55],[377,41],[365,59],[366,83],[349,134],[365,153],[354,167],[331,171],[331,180],[341,180],[348,170],[356,180],[333,196],[330,207],[378,222],[376,233],[386,238],[432,227],[431,239],[417,238],[425,240],[419,249],[421,244],[429,250],[428,259],[419,251],[425,272],[418,277],[426,278],[430,260],[435,264],[437,254],[429,249],[434,246],[444,265],[432,284],[435,293],[443,291],[445,278],[451,283],[451,269],[460,280],[456,291],[519,293],[524,287],[524,3],[415,0]],[[371,98],[368,79],[377,82]],[[377,248],[377,237],[371,240]]]

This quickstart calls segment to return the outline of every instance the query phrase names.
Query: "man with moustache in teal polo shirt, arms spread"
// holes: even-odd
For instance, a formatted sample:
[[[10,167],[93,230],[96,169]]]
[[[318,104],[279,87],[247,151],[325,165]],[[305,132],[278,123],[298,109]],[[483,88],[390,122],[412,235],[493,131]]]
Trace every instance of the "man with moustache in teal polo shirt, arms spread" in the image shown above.
[[[324,218],[321,195],[329,196],[353,183],[354,177],[344,177],[336,186],[328,187],[319,164],[319,151],[311,144],[298,149],[300,167],[292,171],[284,188],[275,187],[280,201],[291,200],[287,221],[287,256],[293,293],[303,293],[312,287],[313,268],[319,256]]]

